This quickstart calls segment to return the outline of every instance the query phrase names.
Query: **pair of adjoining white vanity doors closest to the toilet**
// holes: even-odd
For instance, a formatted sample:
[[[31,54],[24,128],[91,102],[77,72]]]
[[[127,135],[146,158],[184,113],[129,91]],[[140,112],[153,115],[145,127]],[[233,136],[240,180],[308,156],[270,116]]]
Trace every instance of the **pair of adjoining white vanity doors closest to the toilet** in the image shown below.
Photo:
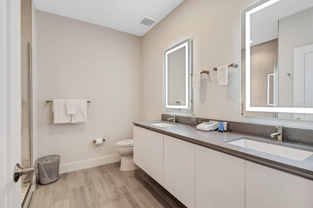
[[[134,126],[134,163],[163,186],[163,134]]]

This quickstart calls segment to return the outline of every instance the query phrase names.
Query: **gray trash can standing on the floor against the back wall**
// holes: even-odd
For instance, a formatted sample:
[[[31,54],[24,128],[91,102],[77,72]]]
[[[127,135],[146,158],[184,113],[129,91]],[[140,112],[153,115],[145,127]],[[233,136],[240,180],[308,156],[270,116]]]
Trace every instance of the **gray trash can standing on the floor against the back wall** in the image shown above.
[[[60,155],[48,155],[37,160],[40,184],[52,184],[59,179],[60,158]]]

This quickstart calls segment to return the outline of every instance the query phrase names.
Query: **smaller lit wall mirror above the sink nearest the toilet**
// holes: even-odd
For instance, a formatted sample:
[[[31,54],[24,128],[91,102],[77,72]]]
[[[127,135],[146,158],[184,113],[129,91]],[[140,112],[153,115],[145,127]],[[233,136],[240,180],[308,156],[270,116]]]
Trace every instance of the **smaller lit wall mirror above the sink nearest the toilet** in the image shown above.
[[[191,112],[191,38],[164,52],[165,111]]]

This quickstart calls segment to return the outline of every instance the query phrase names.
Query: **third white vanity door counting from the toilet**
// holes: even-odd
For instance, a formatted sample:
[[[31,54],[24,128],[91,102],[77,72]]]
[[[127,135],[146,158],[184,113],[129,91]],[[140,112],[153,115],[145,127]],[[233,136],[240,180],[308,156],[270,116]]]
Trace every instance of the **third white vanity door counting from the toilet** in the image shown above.
[[[164,135],[164,188],[186,207],[195,207],[194,144]]]

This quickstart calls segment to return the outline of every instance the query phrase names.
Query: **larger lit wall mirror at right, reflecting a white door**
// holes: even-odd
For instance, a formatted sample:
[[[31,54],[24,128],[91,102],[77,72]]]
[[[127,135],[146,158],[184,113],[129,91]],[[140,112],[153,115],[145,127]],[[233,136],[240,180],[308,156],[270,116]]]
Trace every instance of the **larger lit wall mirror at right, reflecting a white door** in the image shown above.
[[[243,115],[313,120],[313,0],[241,10]]]

